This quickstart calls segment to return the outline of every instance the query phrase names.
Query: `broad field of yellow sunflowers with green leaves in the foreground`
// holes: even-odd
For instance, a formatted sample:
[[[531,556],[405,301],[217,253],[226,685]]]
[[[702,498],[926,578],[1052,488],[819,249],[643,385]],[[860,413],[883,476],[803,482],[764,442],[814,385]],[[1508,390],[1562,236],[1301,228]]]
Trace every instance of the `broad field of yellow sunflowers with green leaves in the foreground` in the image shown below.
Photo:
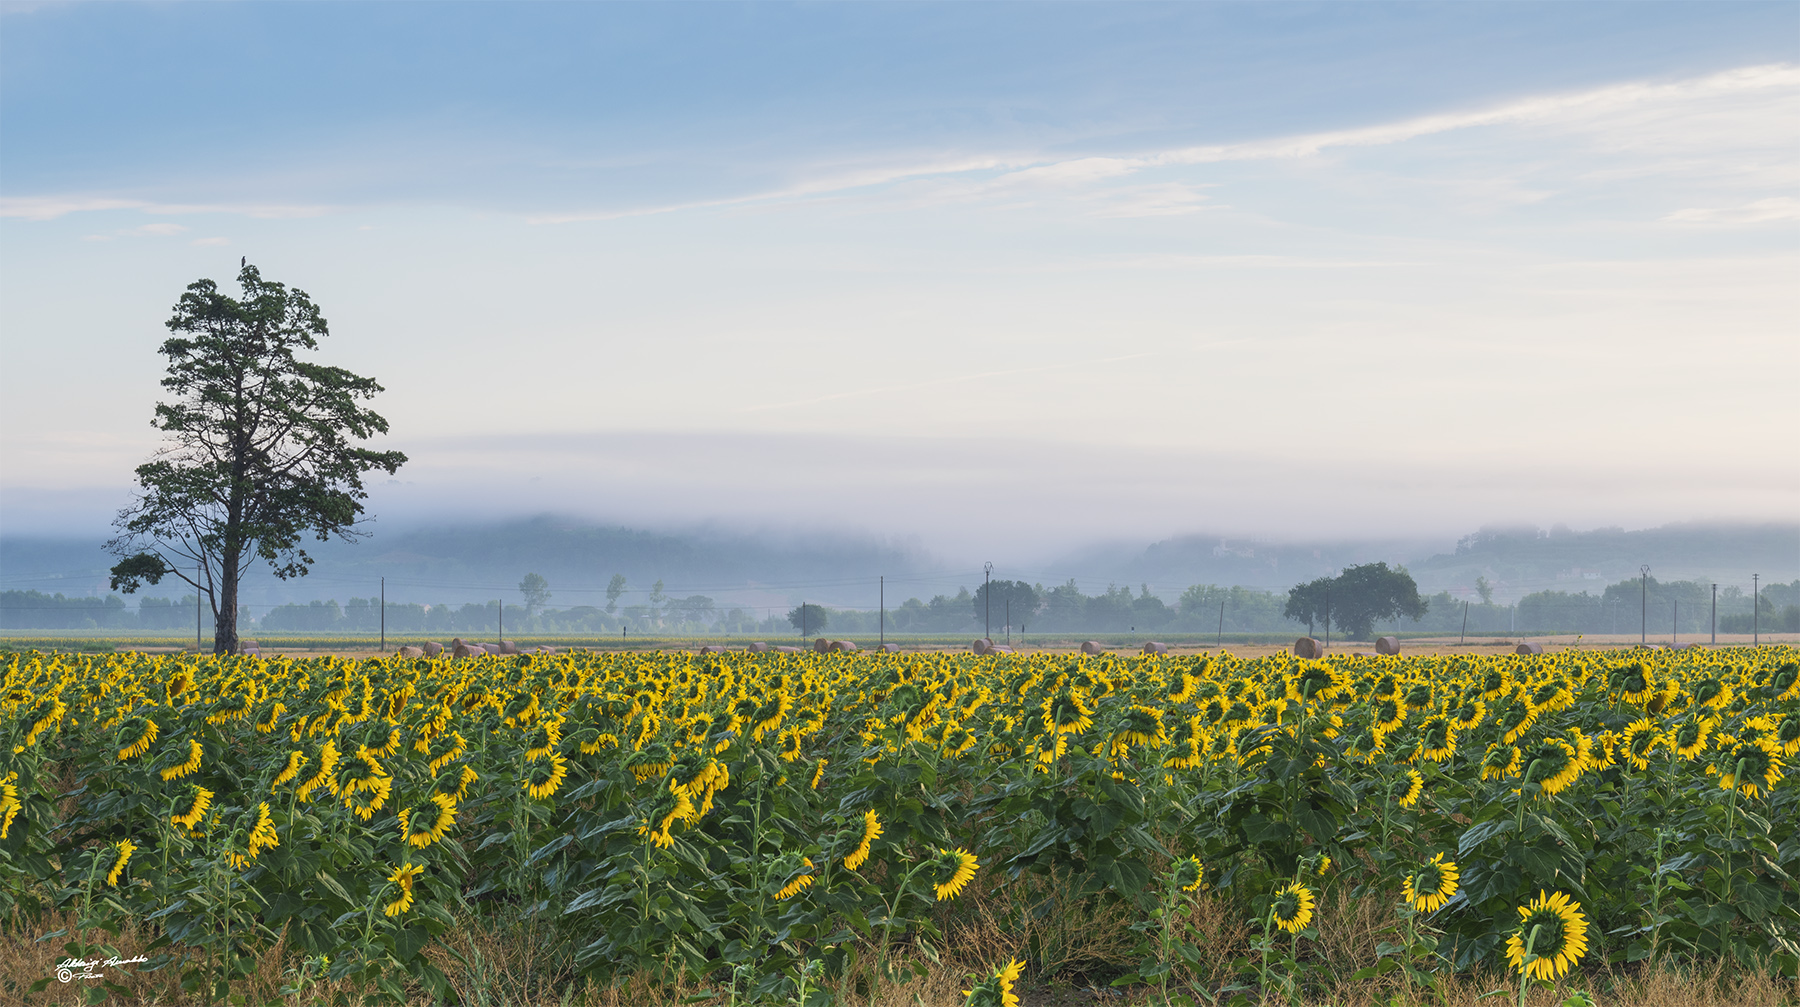
[[[1327,886],[1391,906],[1372,982],[1793,975],[1796,659],[14,654],[0,922],[149,926],[207,1000],[277,942],[446,1000],[428,951],[486,917],[596,982],[855,1003],[977,877],[1049,875],[1172,1002],[1303,1000]],[[1251,924],[1224,975],[1177,922],[1202,895]],[[970,1003],[1048,967],[992,966]]]

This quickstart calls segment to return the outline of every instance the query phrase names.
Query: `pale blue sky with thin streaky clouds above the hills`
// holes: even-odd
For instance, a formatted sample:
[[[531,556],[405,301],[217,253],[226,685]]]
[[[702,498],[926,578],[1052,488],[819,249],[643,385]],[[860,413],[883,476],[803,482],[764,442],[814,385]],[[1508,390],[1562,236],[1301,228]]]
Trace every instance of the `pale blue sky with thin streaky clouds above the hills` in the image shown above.
[[[238,256],[387,515],[1791,517],[1796,157],[1793,4],[7,5],[0,531],[104,528]]]

